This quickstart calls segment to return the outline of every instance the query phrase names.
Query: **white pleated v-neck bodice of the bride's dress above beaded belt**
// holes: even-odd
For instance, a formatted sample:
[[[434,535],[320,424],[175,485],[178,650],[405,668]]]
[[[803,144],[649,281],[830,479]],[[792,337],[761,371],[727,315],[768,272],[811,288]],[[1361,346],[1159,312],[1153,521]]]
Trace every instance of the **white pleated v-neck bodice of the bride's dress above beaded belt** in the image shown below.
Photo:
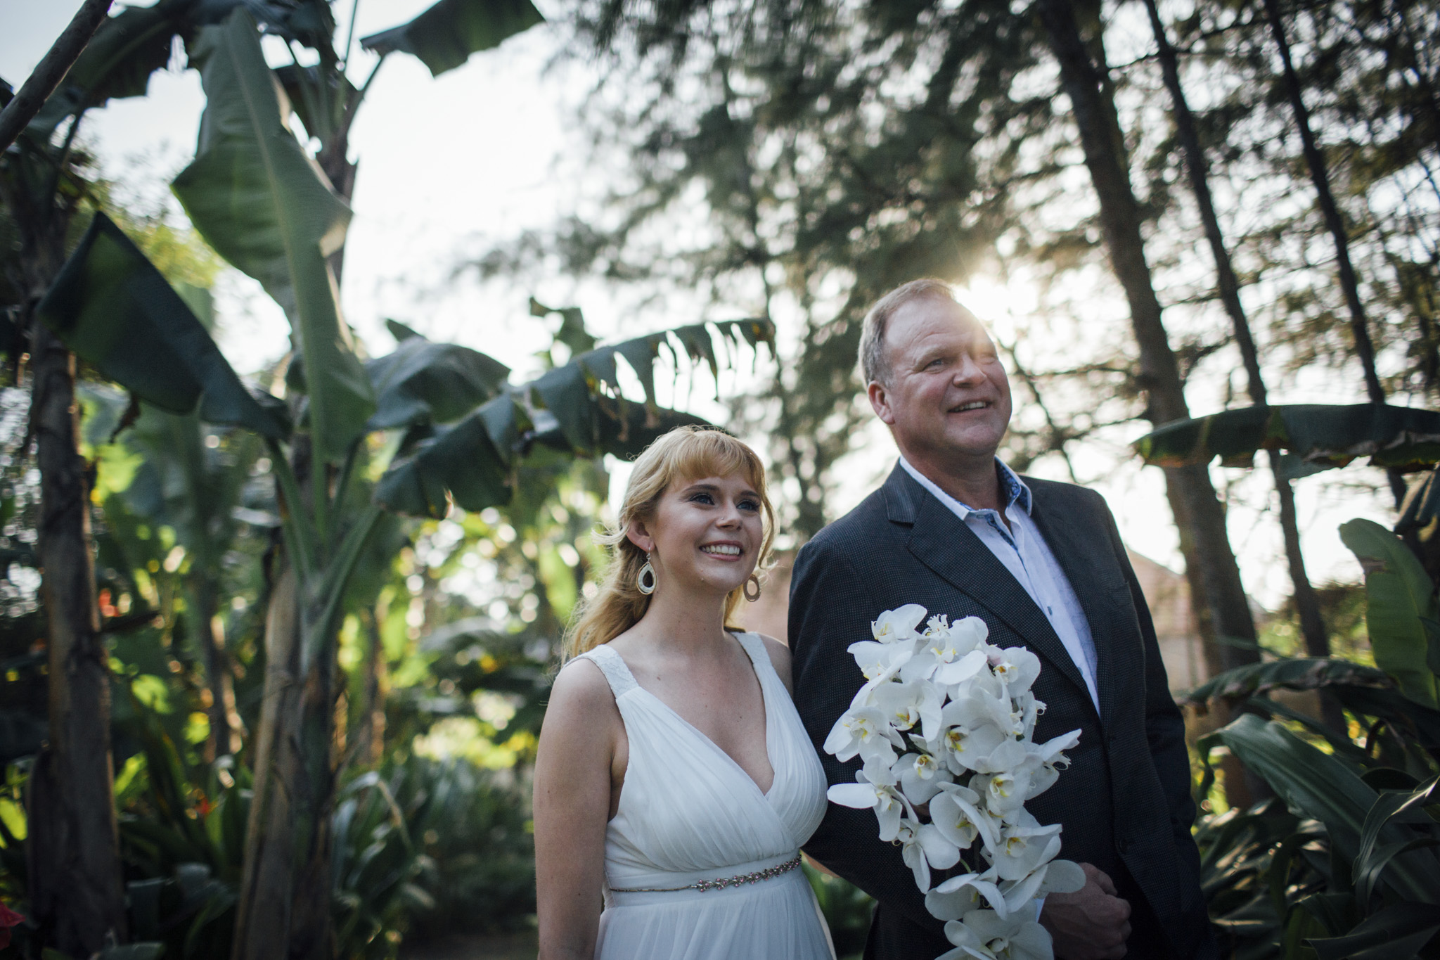
[[[737,635],[765,699],[773,770],[762,792],[736,760],[635,682],[609,646],[586,656],[611,684],[629,761],[619,809],[606,826],[608,888],[674,888],[734,866],[795,856],[825,813],[825,774],[776,675],[765,642]],[[749,872],[749,871],[740,871]]]

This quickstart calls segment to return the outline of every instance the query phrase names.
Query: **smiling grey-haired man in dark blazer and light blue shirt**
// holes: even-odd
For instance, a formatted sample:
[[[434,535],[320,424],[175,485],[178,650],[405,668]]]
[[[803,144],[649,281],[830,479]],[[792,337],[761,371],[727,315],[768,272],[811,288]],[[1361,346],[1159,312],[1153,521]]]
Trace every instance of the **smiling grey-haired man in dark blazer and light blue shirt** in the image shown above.
[[[880,612],[919,603],[952,622],[984,619],[991,643],[1041,659],[1034,692],[1048,708],[1035,740],[1080,730],[1070,769],[1027,805],[1041,823],[1063,825],[1060,855],[1086,872],[1083,889],[1041,904],[1056,956],[1211,956],[1184,721],[1104,501],[1020,478],[995,456],[1009,383],[979,321],[940,281],[913,281],[874,305],[860,363],[901,459],[795,563],[795,701],[816,748],[864,684],[845,648],[870,639]],[[854,783],[858,760],[822,760],[831,784]],[[831,805],[805,851],[878,901],[867,959],[950,948],[868,809]]]

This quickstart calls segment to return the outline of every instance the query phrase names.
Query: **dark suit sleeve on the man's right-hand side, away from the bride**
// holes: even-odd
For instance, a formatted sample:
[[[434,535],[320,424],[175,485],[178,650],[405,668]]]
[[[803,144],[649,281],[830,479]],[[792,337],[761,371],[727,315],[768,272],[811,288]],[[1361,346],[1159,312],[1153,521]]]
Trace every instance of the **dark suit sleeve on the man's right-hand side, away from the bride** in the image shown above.
[[[1151,760],[1155,773],[1159,776],[1161,789],[1165,792],[1165,802],[1169,810],[1171,830],[1175,835],[1175,849],[1179,852],[1184,875],[1200,878],[1200,851],[1191,828],[1195,823],[1195,800],[1191,796],[1189,751],[1185,747],[1185,718],[1175,705],[1175,698],[1169,692],[1169,678],[1165,675],[1165,662],[1161,659],[1159,640],[1155,636],[1155,622],[1151,617],[1151,607],[1140,592],[1140,581],[1130,567],[1130,558],[1120,540],[1120,530],[1115,524],[1115,515],[1109,507],[1102,504],[1104,522],[1109,528],[1110,545],[1125,571],[1125,581],[1130,587],[1130,599],[1135,602],[1135,613],[1140,625],[1140,636],[1145,642],[1145,737],[1151,747]]]

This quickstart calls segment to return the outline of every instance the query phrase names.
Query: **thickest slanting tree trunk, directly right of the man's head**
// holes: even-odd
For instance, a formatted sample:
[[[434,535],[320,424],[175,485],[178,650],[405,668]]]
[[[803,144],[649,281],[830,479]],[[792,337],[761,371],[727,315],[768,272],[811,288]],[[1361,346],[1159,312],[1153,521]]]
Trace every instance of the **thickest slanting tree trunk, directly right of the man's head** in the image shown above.
[[[1097,69],[1076,24],[1074,9],[1067,0],[1040,0],[1037,12],[1050,36],[1050,46],[1060,62],[1060,76],[1070,98],[1086,167],[1100,199],[1100,222],[1110,263],[1130,307],[1130,322],[1140,351],[1138,384],[1149,396],[1146,417],[1169,423],[1189,417],[1179,366],[1169,347],[1161,305],[1151,282],[1145,243],[1140,236],[1140,207],[1130,189],[1125,141],[1113,101],[1102,91],[1103,63]],[[1099,43],[1099,40],[1097,40]],[[1217,659],[1227,668],[1260,659],[1254,619],[1240,581],[1240,567],[1230,548],[1225,511],[1215,495],[1207,466],[1166,468],[1171,502],[1179,501],[1184,514],[1178,524],[1189,531],[1191,557],[1187,577],[1191,590],[1204,596],[1220,642]]]

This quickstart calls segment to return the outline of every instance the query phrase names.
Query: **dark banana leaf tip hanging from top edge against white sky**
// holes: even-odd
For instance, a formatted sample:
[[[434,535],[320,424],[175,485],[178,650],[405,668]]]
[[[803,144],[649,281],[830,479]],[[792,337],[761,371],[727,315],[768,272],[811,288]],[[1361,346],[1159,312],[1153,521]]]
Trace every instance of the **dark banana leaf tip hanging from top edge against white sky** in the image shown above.
[[[360,46],[380,56],[410,53],[439,76],[537,23],[544,17],[530,0],[439,0],[409,23],[361,37]]]

